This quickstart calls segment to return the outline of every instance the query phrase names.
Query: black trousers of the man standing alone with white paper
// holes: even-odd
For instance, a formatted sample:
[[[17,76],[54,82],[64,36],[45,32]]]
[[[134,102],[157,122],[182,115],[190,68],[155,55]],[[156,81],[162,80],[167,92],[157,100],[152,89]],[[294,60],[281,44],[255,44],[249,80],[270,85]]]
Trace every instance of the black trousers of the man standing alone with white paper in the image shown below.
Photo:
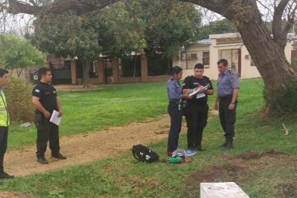
[[[43,116],[42,125],[37,128],[37,140],[36,140],[36,156],[45,156],[47,151],[47,144],[49,141],[49,148],[51,154],[56,154],[60,150],[59,146],[59,126],[49,122],[49,119]]]

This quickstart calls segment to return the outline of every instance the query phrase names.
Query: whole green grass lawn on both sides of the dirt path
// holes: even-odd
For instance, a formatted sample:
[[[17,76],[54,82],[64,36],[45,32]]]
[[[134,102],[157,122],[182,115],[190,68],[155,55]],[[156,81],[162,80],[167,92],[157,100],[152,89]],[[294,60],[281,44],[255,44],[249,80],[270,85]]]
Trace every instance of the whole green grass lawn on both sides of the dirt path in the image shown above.
[[[147,164],[127,151],[89,165],[18,177],[5,181],[0,189],[38,198],[198,198],[199,182],[234,181],[250,198],[297,198],[297,124],[286,122],[290,135],[284,136],[282,122],[260,120],[262,89],[259,78],[241,80],[234,150],[218,147],[224,138],[219,118],[214,116],[203,134],[207,151],[189,157],[189,163]],[[60,92],[59,96],[65,112],[60,129],[64,136],[155,117],[165,114],[167,107],[165,82]],[[209,97],[210,110],[214,98]],[[27,136],[28,141],[11,148],[32,144],[33,132],[12,132],[8,144],[17,139],[16,134]],[[162,140],[149,147],[165,158],[166,145],[167,140]],[[179,145],[186,147],[185,133]]]

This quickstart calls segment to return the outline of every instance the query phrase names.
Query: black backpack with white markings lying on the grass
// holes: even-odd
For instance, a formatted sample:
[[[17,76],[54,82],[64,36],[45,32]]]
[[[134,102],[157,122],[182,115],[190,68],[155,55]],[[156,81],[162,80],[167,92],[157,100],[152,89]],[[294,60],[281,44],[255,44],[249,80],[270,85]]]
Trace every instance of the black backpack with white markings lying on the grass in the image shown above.
[[[139,161],[154,162],[159,160],[159,155],[150,148],[143,145],[134,145],[132,153],[135,159]]]

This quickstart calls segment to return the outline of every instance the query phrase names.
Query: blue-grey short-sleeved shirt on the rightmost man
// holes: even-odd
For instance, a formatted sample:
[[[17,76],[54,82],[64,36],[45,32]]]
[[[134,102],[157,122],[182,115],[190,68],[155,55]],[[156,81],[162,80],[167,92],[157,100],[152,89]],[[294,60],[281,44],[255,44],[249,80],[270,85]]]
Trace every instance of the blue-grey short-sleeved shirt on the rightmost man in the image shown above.
[[[232,95],[233,89],[239,88],[237,73],[229,68],[223,74],[219,73],[217,87],[219,97]]]

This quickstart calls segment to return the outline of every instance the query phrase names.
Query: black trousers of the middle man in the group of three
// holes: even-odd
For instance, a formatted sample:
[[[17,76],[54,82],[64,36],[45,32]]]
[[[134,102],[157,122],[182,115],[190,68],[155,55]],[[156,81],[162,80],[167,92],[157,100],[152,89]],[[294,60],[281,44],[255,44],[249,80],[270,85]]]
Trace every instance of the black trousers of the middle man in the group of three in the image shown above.
[[[208,108],[207,103],[187,103],[185,115],[188,127],[188,148],[201,146],[203,128],[207,123]]]

